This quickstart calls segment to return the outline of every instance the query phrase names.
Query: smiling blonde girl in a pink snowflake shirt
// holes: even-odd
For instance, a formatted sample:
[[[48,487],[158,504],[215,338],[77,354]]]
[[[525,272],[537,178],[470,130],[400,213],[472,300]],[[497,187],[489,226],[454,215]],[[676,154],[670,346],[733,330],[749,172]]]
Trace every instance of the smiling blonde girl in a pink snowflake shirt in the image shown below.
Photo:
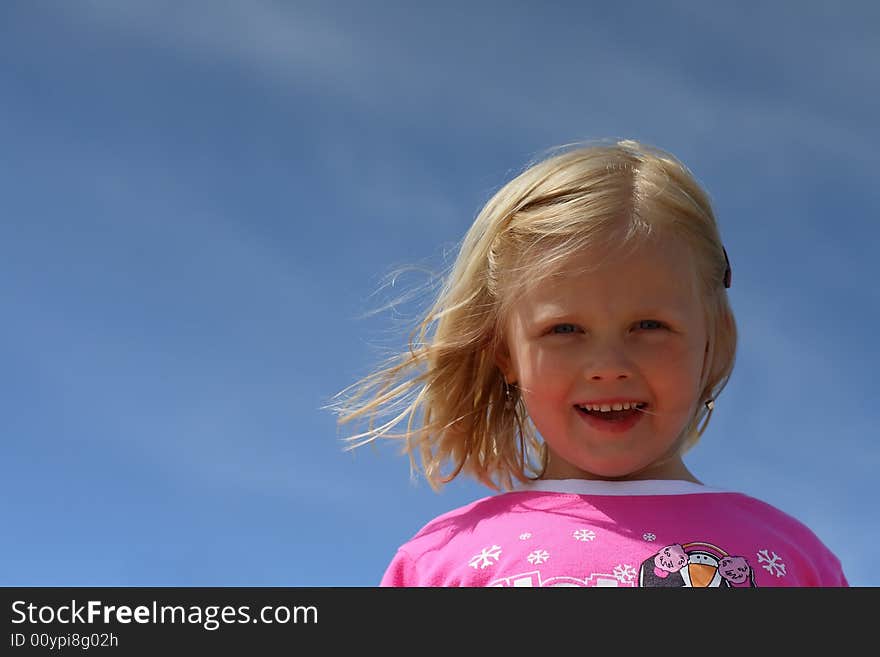
[[[682,460],[733,370],[730,285],[709,198],[660,149],[570,147],[502,187],[409,349],[337,396],[369,418],[353,445],[506,491],[429,522],[381,585],[847,586],[806,526]]]

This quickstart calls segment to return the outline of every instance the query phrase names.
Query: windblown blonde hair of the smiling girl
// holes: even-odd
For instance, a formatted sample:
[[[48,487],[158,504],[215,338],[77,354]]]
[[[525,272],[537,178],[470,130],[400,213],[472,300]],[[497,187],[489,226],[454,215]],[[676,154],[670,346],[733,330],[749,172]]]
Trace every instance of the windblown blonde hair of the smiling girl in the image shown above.
[[[708,196],[659,148],[632,140],[580,143],[552,149],[495,193],[408,350],[336,395],[330,407],[340,425],[369,419],[365,431],[346,439],[349,448],[403,440],[411,468],[420,466],[435,489],[460,473],[495,490],[540,476],[546,450],[515,388],[513,404],[505,403],[495,360],[513,301],[585,248],[598,245],[614,257],[666,234],[693,254],[709,336],[700,399],[717,398],[733,371],[737,329]],[[711,412],[697,405],[679,453],[699,440]],[[405,430],[395,431],[404,420]]]

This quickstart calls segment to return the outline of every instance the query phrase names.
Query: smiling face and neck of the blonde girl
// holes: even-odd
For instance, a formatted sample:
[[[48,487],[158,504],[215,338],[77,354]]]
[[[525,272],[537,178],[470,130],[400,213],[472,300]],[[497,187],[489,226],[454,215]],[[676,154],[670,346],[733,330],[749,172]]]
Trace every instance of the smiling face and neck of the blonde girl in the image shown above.
[[[691,478],[677,439],[705,401],[708,343],[686,245],[664,237],[545,279],[515,300],[505,343],[497,363],[547,444],[545,478]],[[622,424],[579,408],[615,400],[647,406]]]

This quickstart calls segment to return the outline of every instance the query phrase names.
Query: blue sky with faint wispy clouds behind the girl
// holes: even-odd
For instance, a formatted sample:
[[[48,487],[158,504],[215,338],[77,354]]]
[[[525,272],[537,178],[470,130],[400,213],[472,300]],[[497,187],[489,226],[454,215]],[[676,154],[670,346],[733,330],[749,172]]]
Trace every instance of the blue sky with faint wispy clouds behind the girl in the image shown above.
[[[322,410],[403,345],[415,305],[363,317],[383,277],[440,269],[545,149],[634,138],[733,263],[688,465],[880,585],[878,29],[870,2],[3,3],[0,582],[378,583],[490,492],[344,452]]]

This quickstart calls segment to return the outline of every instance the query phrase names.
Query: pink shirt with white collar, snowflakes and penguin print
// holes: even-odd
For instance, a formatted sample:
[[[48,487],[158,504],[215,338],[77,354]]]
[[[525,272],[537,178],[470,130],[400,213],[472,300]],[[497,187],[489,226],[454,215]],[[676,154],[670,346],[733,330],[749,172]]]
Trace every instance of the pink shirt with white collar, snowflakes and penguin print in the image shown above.
[[[753,497],[685,481],[536,481],[423,527],[381,586],[848,586],[837,557]]]

